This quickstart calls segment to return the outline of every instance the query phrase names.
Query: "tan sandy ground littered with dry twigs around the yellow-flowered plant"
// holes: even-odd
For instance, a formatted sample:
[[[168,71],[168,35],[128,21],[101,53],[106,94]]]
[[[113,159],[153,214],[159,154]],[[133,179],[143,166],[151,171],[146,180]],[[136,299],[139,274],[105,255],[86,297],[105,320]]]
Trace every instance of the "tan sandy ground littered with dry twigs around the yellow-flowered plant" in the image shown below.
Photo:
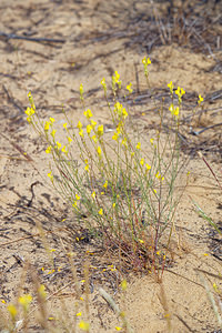
[[[89,256],[87,251],[100,252],[95,240],[74,242],[73,214],[48,183],[46,147],[29,128],[23,112],[28,107],[28,91],[32,92],[42,119],[53,117],[62,123],[64,105],[73,121],[84,122],[79,100],[79,85],[83,83],[88,107],[100,123],[109,124],[100,81],[104,77],[109,82],[118,70],[125,85],[132,82],[133,114],[135,121],[142,118],[143,134],[147,135],[148,129],[152,131],[155,123],[141,63],[149,54],[154,95],[160,99],[172,80],[186,91],[184,119],[193,109],[198,94],[205,98],[205,112],[192,123],[194,131],[221,122],[221,3],[196,1],[191,6],[188,1],[182,10],[186,19],[184,30],[181,21],[176,21],[181,8],[175,7],[170,12],[174,18],[171,33],[165,28],[160,34],[162,26],[157,23],[154,16],[167,27],[168,6],[167,1],[157,2],[154,14],[149,1],[1,0],[0,32],[57,40],[43,43],[9,39],[0,33],[0,299],[6,302],[1,304],[2,309],[16,299],[21,281],[26,281],[24,290],[29,291],[30,279],[22,275],[26,262],[38,272],[49,295],[57,295],[49,302],[51,315],[60,306],[61,299],[72,309],[73,293],[64,249],[71,248],[75,253],[79,276],[82,276],[83,259]],[[219,332],[201,276],[211,289],[215,283],[221,290],[221,238],[194,212],[191,199],[220,228],[222,193],[195,152],[204,153],[220,180],[221,127],[194,137],[190,125],[184,121],[183,134],[188,143],[184,155],[189,158],[184,174],[191,171],[191,175],[175,216],[173,264],[165,270],[162,284],[144,273],[127,276],[124,309],[134,332],[168,332],[167,312],[171,314],[171,332]],[[56,266],[61,269],[58,274],[47,274],[49,259],[39,236],[38,221],[47,232],[50,248],[56,249],[52,256]],[[115,332],[120,322],[98,294],[98,287],[103,286],[121,303],[119,273],[109,270],[113,262],[105,255],[98,254],[88,260],[98,268],[92,272],[91,332]],[[215,292],[214,295],[218,296]],[[34,321],[29,332],[40,332]]]

